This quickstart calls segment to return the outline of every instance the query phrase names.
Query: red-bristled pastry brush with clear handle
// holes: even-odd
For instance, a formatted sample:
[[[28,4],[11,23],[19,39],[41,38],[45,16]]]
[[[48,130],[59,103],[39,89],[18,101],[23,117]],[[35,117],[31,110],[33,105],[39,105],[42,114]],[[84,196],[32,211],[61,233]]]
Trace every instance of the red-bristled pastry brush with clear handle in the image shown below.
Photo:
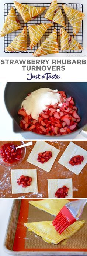
[[[78,199],[70,201],[63,206],[52,222],[59,234],[80,218],[86,202],[87,199]]]

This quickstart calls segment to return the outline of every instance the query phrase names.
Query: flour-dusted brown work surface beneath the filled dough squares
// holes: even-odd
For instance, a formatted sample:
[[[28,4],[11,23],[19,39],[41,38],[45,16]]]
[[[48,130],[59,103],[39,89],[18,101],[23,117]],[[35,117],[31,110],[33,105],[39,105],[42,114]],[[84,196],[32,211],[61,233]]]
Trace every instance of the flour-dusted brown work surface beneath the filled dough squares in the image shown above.
[[[25,141],[25,143],[28,141]],[[73,197],[87,197],[87,165],[84,166],[81,173],[77,176],[72,173],[64,166],[58,163],[60,156],[62,156],[67,145],[70,141],[46,141],[48,144],[55,146],[55,148],[60,149],[60,152],[51,168],[51,171],[48,173],[41,168],[28,163],[26,160],[35,145],[36,141],[33,141],[33,145],[26,147],[26,156],[25,159],[18,165],[13,166],[12,168],[7,168],[0,165],[0,197],[23,197],[23,198],[48,198],[48,179],[73,179]],[[5,141],[0,141],[0,146],[6,143]],[[76,145],[87,150],[87,141],[73,141]],[[37,169],[37,178],[38,178],[38,193],[26,193],[26,194],[13,194],[11,191],[11,169]]]

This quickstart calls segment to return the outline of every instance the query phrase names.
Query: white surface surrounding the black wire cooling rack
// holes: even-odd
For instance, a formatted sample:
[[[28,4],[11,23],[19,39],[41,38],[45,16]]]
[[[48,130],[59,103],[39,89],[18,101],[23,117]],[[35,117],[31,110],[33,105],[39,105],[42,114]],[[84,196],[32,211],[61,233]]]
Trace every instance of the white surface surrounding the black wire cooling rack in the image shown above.
[[[32,3],[35,3],[35,0],[18,0],[20,3],[29,3],[29,2],[32,2]],[[37,0],[36,2],[38,2],[38,3],[51,3],[51,0]],[[87,0],[65,0],[65,1],[63,1],[63,0],[58,0],[58,3],[63,3],[63,2],[65,2],[66,4],[67,3],[81,3],[81,4],[83,4],[83,12],[85,13],[85,14],[87,14]],[[3,9],[4,9],[4,3],[13,3],[13,0],[0,0],[0,31],[1,31],[1,29],[2,29],[2,27],[3,27],[3,20],[4,20],[4,17],[3,17]],[[83,57],[84,55],[85,55],[85,57],[86,57],[86,55],[87,55],[87,33],[86,33],[86,31],[87,31],[87,15],[84,17],[84,20],[83,20],[83,47],[84,47],[84,50],[83,50],[83,52],[82,53],[77,53],[77,54],[67,54],[67,53],[65,53],[64,55],[63,54],[61,54],[61,53],[58,53],[58,54],[52,54],[52,55],[48,55],[48,57],[50,57],[50,56],[53,56],[53,57],[67,57],[68,55],[70,56],[70,57],[74,57],[75,55],[77,56],[77,57]],[[3,39],[3,37],[1,37],[0,38],[0,57],[32,57],[32,53],[31,54],[29,54],[29,53],[4,53],[4,50],[3,50],[3,47],[4,47],[4,39]]]

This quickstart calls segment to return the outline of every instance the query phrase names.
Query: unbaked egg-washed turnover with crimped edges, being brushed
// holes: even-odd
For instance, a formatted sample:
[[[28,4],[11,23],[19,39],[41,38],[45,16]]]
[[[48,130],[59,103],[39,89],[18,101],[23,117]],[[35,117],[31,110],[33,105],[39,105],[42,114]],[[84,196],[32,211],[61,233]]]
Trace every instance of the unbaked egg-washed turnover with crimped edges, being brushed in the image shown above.
[[[62,240],[74,235],[84,223],[84,220],[74,222],[66,228],[61,235],[56,231],[52,221],[24,223],[24,226],[27,227],[29,231],[33,231],[36,235],[41,236],[45,242],[57,245]]]

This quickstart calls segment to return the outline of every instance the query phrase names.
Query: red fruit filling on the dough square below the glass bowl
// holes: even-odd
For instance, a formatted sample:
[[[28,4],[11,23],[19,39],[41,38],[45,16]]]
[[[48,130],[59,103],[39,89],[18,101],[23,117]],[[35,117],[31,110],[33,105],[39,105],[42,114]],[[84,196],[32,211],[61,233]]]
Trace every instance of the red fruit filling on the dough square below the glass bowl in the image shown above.
[[[26,188],[31,185],[32,178],[29,176],[21,175],[19,179],[17,179],[17,183],[19,186]]]

